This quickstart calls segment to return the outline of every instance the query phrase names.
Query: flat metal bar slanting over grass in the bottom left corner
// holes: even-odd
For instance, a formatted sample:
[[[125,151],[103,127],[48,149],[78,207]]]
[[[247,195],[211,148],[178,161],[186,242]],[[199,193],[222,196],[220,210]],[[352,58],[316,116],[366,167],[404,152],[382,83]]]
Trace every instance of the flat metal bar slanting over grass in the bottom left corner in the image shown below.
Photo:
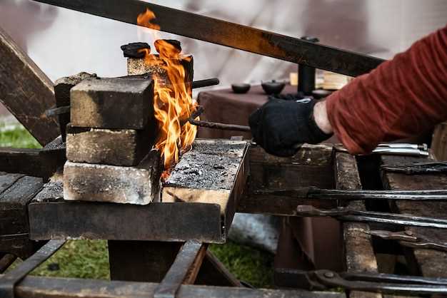
[[[65,240],[50,240],[34,255],[26,259],[26,261],[11,270],[11,272],[2,276],[0,278],[0,297],[14,298],[15,285],[24,279],[29,272],[36,269],[36,267],[51,257],[54,252],[57,252],[64,243]]]

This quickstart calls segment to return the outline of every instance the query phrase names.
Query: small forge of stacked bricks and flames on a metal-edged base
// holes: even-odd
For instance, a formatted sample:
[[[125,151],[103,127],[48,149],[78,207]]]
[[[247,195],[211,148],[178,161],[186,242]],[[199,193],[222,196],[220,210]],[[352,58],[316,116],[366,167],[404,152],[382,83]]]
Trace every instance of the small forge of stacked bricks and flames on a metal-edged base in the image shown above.
[[[176,107],[166,108],[172,102],[161,100],[160,89],[179,96],[174,85],[183,84],[186,94],[176,100],[191,103],[177,108],[194,107],[194,60],[175,41],[156,41],[159,52],[163,43],[174,44],[174,57],[151,54],[147,43],[122,46],[126,77],[80,73],[58,80],[59,106],[69,95],[70,113],[59,119],[67,122],[67,161],[29,205],[39,214],[30,217],[32,239],[225,242],[246,185],[248,143],[193,135],[191,145],[182,144],[186,125],[193,127],[188,119],[200,112],[196,107],[164,119],[180,129],[174,143],[179,160],[166,166],[164,159],[174,157],[157,144],[168,146],[171,135],[163,135],[166,123],[156,113]],[[172,81],[170,63],[183,68],[181,81]],[[82,224],[72,225],[76,218]]]

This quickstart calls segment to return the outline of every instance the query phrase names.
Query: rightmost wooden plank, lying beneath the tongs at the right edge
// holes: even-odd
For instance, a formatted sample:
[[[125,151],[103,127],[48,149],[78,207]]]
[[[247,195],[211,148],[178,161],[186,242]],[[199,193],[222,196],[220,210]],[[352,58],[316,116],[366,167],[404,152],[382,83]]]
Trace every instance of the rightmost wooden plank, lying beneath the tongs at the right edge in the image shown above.
[[[396,165],[423,161],[427,158],[406,156],[382,156],[383,165]],[[436,190],[446,189],[447,175],[405,175],[398,173],[383,173],[383,185],[389,190]],[[416,216],[428,216],[447,219],[447,202],[394,202],[391,210]],[[441,242],[447,242],[447,230],[424,227],[406,227],[406,230],[425,235]],[[436,250],[407,249],[407,262],[416,265],[416,272],[425,277],[447,277],[447,253]],[[411,253],[413,252],[413,253]]]

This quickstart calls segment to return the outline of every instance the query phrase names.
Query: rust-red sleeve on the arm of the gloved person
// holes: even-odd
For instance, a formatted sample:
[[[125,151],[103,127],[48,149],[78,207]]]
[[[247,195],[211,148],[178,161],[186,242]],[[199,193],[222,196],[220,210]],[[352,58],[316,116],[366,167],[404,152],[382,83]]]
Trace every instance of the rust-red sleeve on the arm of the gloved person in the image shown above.
[[[334,133],[353,154],[447,120],[447,26],[333,93],[326,107]]]

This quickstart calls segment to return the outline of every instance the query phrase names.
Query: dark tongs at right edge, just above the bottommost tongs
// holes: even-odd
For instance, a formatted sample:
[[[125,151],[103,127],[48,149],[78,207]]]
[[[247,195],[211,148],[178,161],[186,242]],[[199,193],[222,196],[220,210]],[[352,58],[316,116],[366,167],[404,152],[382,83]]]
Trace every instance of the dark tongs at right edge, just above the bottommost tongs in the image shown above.
[[[431,239],[412,231],[391,232],[383,230],[365,231],[366,234],[380,237],[383,240],[397,240],[406,247],[441,250],[447,252],[447,242]]]

